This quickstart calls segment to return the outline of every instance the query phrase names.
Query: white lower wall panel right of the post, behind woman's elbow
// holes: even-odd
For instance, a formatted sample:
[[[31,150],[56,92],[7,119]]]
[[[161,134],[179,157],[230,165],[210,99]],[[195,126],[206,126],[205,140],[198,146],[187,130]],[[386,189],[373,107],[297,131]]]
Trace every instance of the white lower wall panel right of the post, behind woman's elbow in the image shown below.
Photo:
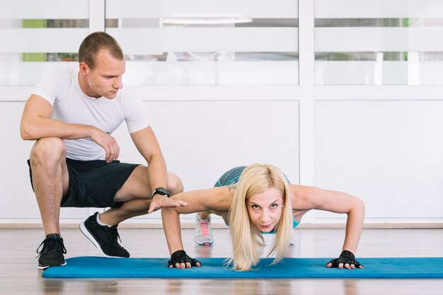
[[[442,100],[318,101],[316,184],[361,197],[367,221],[441,221],[442,112]]]

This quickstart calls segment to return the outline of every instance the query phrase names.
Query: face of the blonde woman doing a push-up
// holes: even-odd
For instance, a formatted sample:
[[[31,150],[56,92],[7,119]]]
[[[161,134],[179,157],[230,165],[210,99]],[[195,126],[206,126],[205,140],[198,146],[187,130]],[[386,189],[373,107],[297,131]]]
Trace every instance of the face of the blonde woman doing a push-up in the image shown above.
[[[275,228],[282,216],[282,191],[276,187],[260,192],[246,199],[249,219],[262,233],[269,233]]]

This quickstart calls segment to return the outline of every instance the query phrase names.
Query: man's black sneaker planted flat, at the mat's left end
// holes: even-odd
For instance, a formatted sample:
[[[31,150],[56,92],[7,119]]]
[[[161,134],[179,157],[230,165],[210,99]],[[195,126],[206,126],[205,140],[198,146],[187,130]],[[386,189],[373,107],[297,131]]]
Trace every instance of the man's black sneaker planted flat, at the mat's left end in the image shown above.
[[[42,250],[39,252],[40,247],[42,247]],[[63,239],[58,233],[47,235],[38,246],[37,253],[39,270],[46,270],[50,266],[66,265],[63,254],[66,254],[67,251],[64,248]]]

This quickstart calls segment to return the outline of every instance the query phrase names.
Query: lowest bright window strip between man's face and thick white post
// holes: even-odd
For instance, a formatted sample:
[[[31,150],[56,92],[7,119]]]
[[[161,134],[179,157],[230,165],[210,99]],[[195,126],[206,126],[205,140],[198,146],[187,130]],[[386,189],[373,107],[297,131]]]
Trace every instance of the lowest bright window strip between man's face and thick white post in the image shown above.
[[[297,62],[127,62],[132,85],[294,85]],[[171,71],[173,69],[173,71]]]

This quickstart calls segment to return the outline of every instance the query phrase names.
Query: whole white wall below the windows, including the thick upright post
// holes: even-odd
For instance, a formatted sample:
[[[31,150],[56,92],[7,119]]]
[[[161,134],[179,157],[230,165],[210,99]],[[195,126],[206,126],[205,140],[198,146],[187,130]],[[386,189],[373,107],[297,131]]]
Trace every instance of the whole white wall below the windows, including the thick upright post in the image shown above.
[[[314,62],[313,0],[300,0],[299,11],[303,42],[299,63],[294,64],[299,65],[299,85],[135,86],[168,168],[192,190],[212,186],[233,166],[272,163],[292,183],[362,198],[367,224],[441,224],[443,86],[346,85],[338,76],[329,81],[342,85],[321,86],[322,66]],[[3,75],[17,68],[0,66]],[[40,71],[36,64],[20,69],[23,81]],[[345,69],[347,76],[356,73]],[[18,130],[23,105],[33,91],[33,86],[23,85],[29,84],[0,87],[0,224],[40,224],[25,163],[33,143],[21,140]],[[115,137],[123,161],[142,162],[125,126]],[[93,211],[62,209],[62,224],[79,222]],[[304,218],[305,224],[344,221],[345,216],[327,212]],[[160,219],[157,212],[127,223],[160,224]]]

